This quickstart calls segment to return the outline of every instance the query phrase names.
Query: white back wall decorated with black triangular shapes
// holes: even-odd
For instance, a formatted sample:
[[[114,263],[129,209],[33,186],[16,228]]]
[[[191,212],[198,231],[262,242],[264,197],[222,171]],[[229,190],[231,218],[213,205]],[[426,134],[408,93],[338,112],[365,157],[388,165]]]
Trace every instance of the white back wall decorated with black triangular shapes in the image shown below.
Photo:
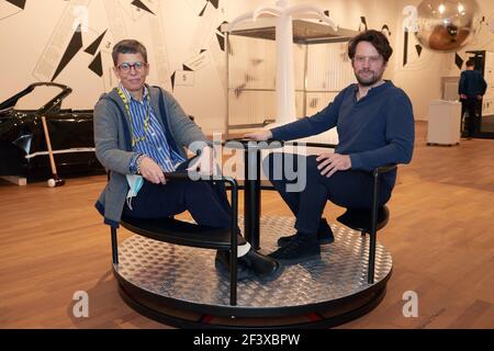
[[[88,4],[89,30],[82,33],[83,47],[55,80],[66,83],[74,93],[65,106],[92,109],[98,97],[115,84],[111,73],[111,46],[120,38],[135,37],[149,50],[151,73],[149,83],[171,89],[169,77],[182,65],[203,58],[203,64],[193,72],[193,84],[176,86],[173,95],[184,110],[197,117],[205,132],[222,131],[225,125],[225,57],[218,49],[216,27],[222,21],[231,21],[238,14],[252,10],[259,4],[273,4],[276,0],[221,0],[220,8],[207,4],[205,15],[198,14],[206,4],[205,0],[144,0],[156,16],[136,12],[130,0],[44,0],[26,1],[26,8],[18,11],[7,1],[0,2],[0,65],[2,79],[0,101],[7,99],[33,81],[44,80],[38,64],[49,61],[56,66],[60,59],[56,55],[46,56],[47,47],[59,43],[55,48],[59,55],[65,50],[71,36],[68,22],[75,21],[70,5]],[[479,0],[486,20],[494,15],[494,3]],[[415,53],[415,38],[409,38],[408,64],[403,67],[403,19],[402,9],[418,0],[292,0],[292,3],[316,3],[330,11],[336,22],[351,30],[358,30],[360,16],[364,15],[370,29],[381,29],[388,24],[394,54],[385,78],[402,87],[411,97],[416,118],[426,120],[428,103],[440,97],[440,77],[459,76],[454,65],[454,54],[434,53],[424,49],[422,56]],[[64,15],[65,21],[64,22]],[[68,19],[68,20],[67,20]],[[64,27],[65,25],[65,27]],[[83,49],[104,30],[109,30],[101,53],[103,56],[103,77],[88,69],[93,56]],[[198,57],[200,49],[206,49]],[[52,46],[53,49],[53,46]],[[494,50],[494,34],[484,23],[476,39],[459,54],[467,57],[467,49]],[[54,52],[52,50],[52,54]],[[45,55],[45,56],[44,56]],[[158,69],[159,68],[159,69]],[[48,77],[49,75],[46,75]]]

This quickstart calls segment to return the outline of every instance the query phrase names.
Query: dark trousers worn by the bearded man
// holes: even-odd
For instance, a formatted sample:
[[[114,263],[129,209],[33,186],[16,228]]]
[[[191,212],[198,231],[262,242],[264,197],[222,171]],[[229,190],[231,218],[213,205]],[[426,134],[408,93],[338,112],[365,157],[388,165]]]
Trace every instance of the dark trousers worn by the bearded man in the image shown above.
[[[370,172],[337,171],[330,178],[321,176],[317,156],[289,156],[273,152],[263,160],[263,171],[295,216],[295,229],[316,233],[326,202],[347,208],[371,208],[373,177]],[[282,163],[280,163],[282,160]],[[304,172],[305,169],[305,172]],[[288,171],[287,171],[288,170]],[[293,179],[293,173],[296,179]],[[281,176],[281,177],[280,177]],[[301,181],[305,178],[305,182]],[[299,183],[304,186],[290,185]],[[391,197],[392,185],[380,180],[379,205]]]

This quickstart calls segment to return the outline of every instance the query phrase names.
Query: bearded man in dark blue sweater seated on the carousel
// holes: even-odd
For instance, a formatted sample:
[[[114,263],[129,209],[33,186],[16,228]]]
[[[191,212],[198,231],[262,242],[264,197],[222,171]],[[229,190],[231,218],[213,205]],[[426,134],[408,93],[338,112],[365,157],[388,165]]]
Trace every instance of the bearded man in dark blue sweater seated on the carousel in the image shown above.
[[[408,163],[414,146],[414,116],[406,93],[382,79],[393,49],[384,34],[367,31],[348,44],[358,83],[344,89],[326,109],[287,125],[247,134],[256,140],[292,140],[337,127],[339,144],[335,152],[293,157],[292,168],[271,154],[263,169],[274,188],[296,217],[296,234],[281,237],[280,248],[269,256],[285,264],[317,258],[321,245],[334,240],[332,229],[322,218],[326,201],[347,208],[371,208],[372,170],[389,163]],[[284,161],[290,158],[284,157]],[[305,165],[305,167],[304,167]],[[288,191],[285,169],[306,177],[305,188]],[[280,177],[281,176],[281,177]],[[379,205],[391,197],[396,171],[380,179]]]

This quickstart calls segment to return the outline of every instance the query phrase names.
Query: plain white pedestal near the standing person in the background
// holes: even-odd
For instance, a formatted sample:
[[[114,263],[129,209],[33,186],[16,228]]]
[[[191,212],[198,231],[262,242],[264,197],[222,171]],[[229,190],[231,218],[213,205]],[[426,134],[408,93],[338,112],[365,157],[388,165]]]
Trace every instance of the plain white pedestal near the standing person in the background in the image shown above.
[[[461,103],[433,100],[429,104],[427,144],[460,144]]]

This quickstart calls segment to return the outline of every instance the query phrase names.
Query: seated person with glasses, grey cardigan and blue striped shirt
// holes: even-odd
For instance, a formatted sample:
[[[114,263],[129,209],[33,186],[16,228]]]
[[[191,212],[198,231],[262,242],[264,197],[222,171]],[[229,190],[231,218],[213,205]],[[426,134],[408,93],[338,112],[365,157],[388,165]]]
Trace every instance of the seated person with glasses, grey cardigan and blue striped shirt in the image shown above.
[[[213,173],[213,150],[201,129],[171,94],[146,84],[149,73],[143,44],[125,39],[112,53],[119,87],[94,107],[94,144],[110,181],[97,202],[104,223],[117,227],[123,217],[161,218],[189,211],[200,225],[231,227],[226,191],[221,182],[167,183],[165,172],[195,170]],[[184,148],[200,152],[187,159]],[[228,269],[229,252],[216,261]],[[279,269],[276,260],[238,247],[238,278],[266,276]]]

